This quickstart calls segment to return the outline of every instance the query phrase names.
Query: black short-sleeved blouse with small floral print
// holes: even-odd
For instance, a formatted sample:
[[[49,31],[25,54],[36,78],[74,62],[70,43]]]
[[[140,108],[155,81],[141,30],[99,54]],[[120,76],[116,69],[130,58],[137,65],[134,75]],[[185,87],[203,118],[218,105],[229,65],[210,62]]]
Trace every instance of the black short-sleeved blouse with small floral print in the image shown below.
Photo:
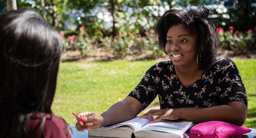
[[[147,70],[128,96],[136,98],[144,109],[158,95],[160,108],[213,107],[240,101],[247,106],[247,95],[235,63],[217,58],[192,85],[185,86],[177,77],[172,61],[158,62]]]

